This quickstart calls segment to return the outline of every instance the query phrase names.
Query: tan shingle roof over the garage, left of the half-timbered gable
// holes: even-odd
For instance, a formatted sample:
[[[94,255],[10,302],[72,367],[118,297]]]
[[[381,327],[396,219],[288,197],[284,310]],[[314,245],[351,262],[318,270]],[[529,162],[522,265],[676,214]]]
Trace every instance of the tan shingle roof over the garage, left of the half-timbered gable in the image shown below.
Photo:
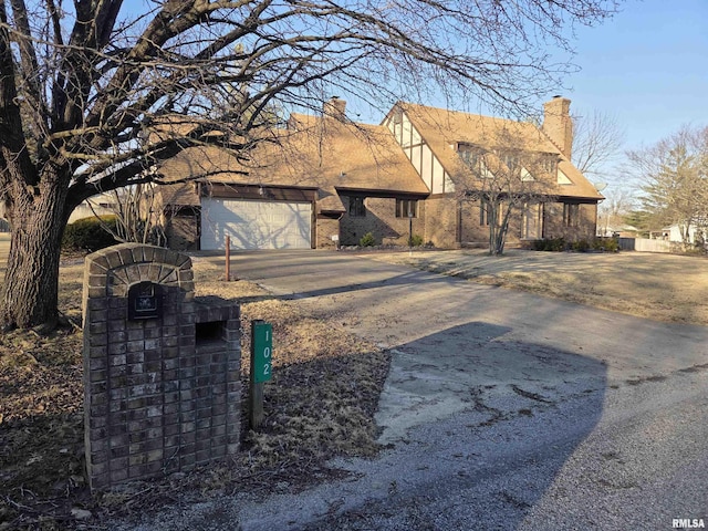
[[[317,189],[325,211],[344,210],[336,190],[429,194],[386,127],[308,115],[292,115],[288,129],[260,143],[248,160],[217,146],[191,147],[165,162],[160,174],[168,183],[197,178]],[[165,204],[198,204],[184,185],[166,186],[163,195]]]

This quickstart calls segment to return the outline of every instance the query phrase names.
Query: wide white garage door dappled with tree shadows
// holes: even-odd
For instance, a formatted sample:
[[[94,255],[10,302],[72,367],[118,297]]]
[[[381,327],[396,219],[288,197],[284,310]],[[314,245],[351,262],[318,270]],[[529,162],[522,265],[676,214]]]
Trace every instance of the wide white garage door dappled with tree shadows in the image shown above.
[[[201,200],[201,249],[310,249],[312,206],[249,199]]]

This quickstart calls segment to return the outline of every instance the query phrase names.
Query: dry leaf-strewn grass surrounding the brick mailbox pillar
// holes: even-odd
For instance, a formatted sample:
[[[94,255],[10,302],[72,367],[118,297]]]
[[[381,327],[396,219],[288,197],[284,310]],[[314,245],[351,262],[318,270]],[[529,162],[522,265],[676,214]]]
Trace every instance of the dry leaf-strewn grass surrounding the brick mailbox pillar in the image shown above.
[[[240,301],[246,327],[251,319],[273,324],[273,379],[266,385],[261,429],[244,429],[242,451],[227,462],[91,496],[83,478],[81,332],[6,334],[0,336],[0,530],[80,525],[71,516],[75,508],[90,510],[90,522],[97,524],[108,514],[163,507],[174,492],[204,497],[301,488],[339,473],[325,464],[334,456],[378,451],[373,415],[388,353],[343,331],[333,333],[335,324],[303,317],[296,303],[275,300],[254,284],[221,281],[221,271],[206,260],[196,259],[194,269],[198,295]],[[81,264],[62,268],[60,305],[74,322],[81,319],[82,273]]]

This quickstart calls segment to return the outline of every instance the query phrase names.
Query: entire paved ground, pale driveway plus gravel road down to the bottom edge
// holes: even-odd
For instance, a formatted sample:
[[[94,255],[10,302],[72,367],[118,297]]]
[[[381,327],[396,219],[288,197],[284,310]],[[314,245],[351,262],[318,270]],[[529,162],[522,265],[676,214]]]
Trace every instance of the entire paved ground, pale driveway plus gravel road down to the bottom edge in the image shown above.
[[[238,253],[232,269],[392,348],[377,416],[389,448],[296,496],[223,497],[121,529],[708,522],[708,329],[347,253]]]

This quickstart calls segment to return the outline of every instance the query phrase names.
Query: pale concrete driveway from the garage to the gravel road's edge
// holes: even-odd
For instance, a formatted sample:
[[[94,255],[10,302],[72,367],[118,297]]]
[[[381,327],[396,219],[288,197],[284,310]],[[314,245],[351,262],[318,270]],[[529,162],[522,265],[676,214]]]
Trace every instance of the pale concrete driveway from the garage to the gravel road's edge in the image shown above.
[[[383,441],[501,395],[555,404],[708,362],[708,329],[475,284],[346,252],[237,253],[232,270],[394,352]],[[513,406],[516,407],[516,406]]]

